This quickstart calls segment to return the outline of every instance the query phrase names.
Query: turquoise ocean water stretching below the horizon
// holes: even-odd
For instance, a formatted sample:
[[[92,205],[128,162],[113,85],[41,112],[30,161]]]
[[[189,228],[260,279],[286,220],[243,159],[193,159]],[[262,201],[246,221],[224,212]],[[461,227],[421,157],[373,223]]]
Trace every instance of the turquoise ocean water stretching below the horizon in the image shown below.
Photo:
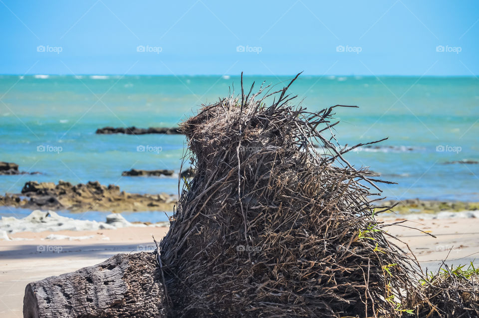
[[[276,84],[290,76],[244,77],[245,86]],[[100,127],[173,127],[201,104],[238,91],[235,76],[0,76],[0,161],[36,175],[0,176],[0,193],[19,193],[28,180],[114,183],[137,193],[178,193],[173,177],[122,177],[131,168],[179,172],[185,138],[179,135],[96,135]],[[282,86],[281,86],[282,87]],[[301,76],[291,86],[302,106],[336,108],[337,139],[352,146],[389,137],[351,152],[370,166],[391,199],[479,201],[479,81],[474,77]],[[141,152],[137,149],[150,151]],[[148,147],[147,147],[148,146]],[[376,148],[375,146],[379,146]],[[45,151],[41,151],[45,150]],[[0,215],[29,211],[1,208]],[[97,214],[95,214],[97,213]],[[68,214],[68,213],[67,213]],[[103,219],[91,212],[78,217]],[[130,220],[164,220],[164,213],[128,214]]]

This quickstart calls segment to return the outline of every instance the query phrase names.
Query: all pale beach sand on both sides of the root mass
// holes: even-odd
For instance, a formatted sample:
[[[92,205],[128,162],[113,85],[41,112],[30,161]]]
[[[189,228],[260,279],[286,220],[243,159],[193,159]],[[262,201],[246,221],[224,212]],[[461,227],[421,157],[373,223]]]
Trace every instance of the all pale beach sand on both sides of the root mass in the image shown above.
[[[388,218],[386,223],[404,220]],[[392,226],[389,233],[409,245],[423,270],[437,270],[441,260],[447,264],[469,264],[479,257],[479,218],[414,220],[402,225],[418,230]],[[22,317],[26,284],[53,275],[60,275],[98,264],[118,253],[153,251],[152,235],[161,239],[167,227],[126,227],[116,230],[20,232],[9,235],[12,241],[0,241],[0,317]],[[81,240],[42,240],[48,235],[89,237]],[[30,240],[16,240],[16,239]],[[108,238],[108,239],[106,239]],[[400,246],[406,247],[399,243]],[[40,252],[43,250],[43,252]],[[45,251],[48,250],[48,251]]]

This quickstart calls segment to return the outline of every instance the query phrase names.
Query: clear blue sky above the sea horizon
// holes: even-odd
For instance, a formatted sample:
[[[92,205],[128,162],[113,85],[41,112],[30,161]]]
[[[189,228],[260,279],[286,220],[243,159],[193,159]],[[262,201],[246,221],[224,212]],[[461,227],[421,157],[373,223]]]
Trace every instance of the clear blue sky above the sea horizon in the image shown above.
[[[478,21],[477,0],[0,0],[0,73],[472,76]]]

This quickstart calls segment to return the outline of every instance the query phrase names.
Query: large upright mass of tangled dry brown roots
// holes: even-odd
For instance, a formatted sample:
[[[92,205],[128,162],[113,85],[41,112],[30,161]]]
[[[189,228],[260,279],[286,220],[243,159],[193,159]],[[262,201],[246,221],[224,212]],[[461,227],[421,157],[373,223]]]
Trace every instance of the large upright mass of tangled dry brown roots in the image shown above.
[[[333,144],[340,105],[290,106],[296,78],[247,95],[241,79],[239,97],[183,123],[197,174],[160,243],[172,317],[401,317],[412,308],[417,262],[386,239],[371,204],[383,181],[344,159],[354,147]]]

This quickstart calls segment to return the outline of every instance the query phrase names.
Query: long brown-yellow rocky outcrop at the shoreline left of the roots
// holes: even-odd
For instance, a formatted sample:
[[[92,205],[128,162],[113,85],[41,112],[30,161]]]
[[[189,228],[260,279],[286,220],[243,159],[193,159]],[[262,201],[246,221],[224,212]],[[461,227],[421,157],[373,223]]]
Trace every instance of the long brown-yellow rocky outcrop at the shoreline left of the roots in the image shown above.
[[[120,191],[117,185],[108,186],[98,181],[72,185],[70,182],[28,181],[21,194],[0,196],[0,203],[28,209],[54,211],[172,211],[176,197],[166,193],[139,194]]]

